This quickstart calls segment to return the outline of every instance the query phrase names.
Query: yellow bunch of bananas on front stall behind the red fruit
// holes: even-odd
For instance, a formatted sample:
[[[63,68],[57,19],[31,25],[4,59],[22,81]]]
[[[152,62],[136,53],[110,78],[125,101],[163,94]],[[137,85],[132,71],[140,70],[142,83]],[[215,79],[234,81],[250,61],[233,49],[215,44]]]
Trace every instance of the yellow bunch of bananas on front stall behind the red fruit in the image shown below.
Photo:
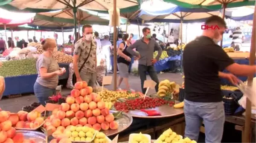
[[[175,82],[170,82],[168,79],[161,81],[158,86],[157,95],[163,97],[169,93],[173,93],[176,88]]]

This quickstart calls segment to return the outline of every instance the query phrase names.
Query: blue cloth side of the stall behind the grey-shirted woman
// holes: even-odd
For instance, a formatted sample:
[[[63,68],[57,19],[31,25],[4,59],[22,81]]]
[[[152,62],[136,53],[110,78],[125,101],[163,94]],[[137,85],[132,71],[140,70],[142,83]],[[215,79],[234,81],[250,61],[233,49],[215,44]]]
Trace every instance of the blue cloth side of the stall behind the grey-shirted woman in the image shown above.
[[[58,64],[59,64],[59,67],[66,68],[66,73],[64,73],[62,76],[59,76],[59,79],[68,79],[69,64],[67,63],[58,63]],[[34,84],[37,77],[38,77],[38,74],[5,77],[4,79],[6,83],[6,90],[3,92],[3,96],[23,94],[23,93],[33,93]]]

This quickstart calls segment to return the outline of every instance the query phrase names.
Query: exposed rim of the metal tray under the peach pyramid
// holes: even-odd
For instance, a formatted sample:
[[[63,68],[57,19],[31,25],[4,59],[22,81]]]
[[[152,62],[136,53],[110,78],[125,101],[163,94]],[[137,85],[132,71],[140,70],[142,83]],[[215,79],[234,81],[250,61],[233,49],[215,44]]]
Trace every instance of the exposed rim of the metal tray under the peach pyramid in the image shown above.
[[[114,112],[118,112],[118,111],[110,110],[109,112],[114,113]],[[107,136],[118,134],[119,132],[122,132],[125,129],[127,129],[129,126],[131,126],[132,117],[131,117],[131,115],[129,115],[125,112],[122,112],[122,118],[116,119],[115,121],[119,124],[118,129],[116,129],[116,130],[109,129],[107,131],[100,131],[100,132],[103,132]]]

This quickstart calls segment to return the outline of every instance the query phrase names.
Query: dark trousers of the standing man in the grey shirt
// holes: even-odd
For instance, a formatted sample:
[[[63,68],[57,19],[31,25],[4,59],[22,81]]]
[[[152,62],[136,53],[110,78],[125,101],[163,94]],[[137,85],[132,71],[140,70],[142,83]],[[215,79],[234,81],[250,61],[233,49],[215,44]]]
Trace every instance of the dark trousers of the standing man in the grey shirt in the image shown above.
[[[143,88],[144,81],[147,80],[147,75],[146,75],[147,72],[148,72],[150,78],[157,83],[157,85],[155,86],[155,90],[156,90],[156,92],[158,92],[159,81],[158,81],[158,77],[157,77],[157,72],[154,70],[154,65],[145,66],[145,65],[139,64],[138,70],[139,70],[139,74],[140,74],[142,93],[145,94],[146,90],[147,90],[146,88]]]

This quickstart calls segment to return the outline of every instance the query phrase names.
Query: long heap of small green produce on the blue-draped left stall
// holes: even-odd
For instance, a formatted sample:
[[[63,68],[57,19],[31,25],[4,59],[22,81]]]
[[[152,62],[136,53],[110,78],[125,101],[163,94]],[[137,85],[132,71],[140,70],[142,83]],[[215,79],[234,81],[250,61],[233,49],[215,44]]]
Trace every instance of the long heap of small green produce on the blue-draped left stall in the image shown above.
[[[0,67],[0,76],[23,76],[37,74],[36,59],[20,59],[3,62]]]

